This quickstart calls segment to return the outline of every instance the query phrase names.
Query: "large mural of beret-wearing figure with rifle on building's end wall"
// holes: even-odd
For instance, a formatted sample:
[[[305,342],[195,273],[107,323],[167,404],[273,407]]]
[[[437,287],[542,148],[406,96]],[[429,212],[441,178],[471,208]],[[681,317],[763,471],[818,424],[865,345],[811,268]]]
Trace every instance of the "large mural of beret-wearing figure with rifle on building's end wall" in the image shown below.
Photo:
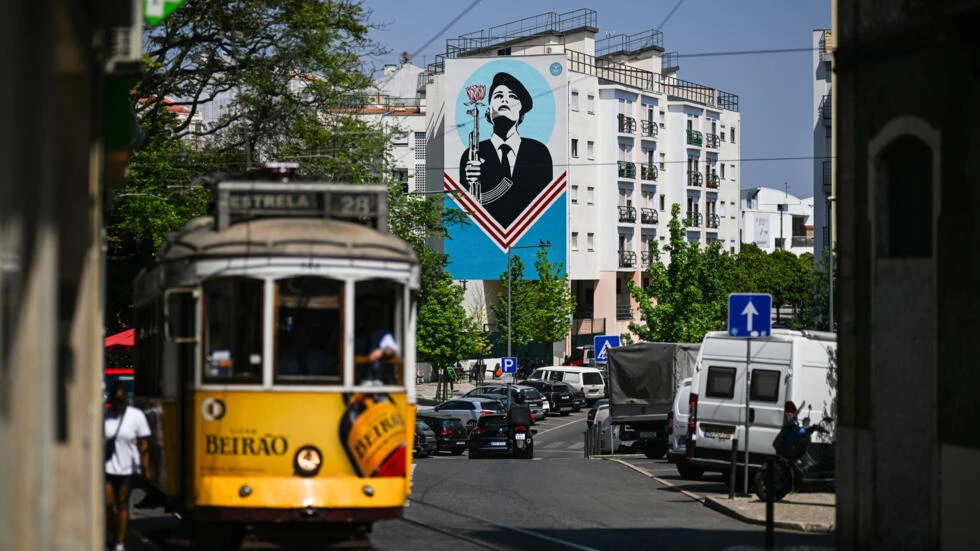
[[[443,187],[470,220],[446,241],[453,277],[497,279],[509,248],[541,241],[565,262],[564,56],[447,59],[445,83]]]

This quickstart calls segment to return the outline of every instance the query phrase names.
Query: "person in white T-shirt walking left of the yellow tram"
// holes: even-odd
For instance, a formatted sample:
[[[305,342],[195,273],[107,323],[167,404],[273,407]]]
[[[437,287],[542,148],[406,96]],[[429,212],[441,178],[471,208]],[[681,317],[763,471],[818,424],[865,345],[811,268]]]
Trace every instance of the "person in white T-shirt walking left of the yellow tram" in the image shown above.
[[[140,409],[129,405],[128,392],[121,382],[112,387],[110,396],[112,406],[103,426],[103,438],[108,444],[105,446],[106,521],[109,536],[115,536],[115,551],[125,551],[129,490],[141,471],[144,476],[150,472],[150,424]],[[114,445],[109,444],[110,440]]]

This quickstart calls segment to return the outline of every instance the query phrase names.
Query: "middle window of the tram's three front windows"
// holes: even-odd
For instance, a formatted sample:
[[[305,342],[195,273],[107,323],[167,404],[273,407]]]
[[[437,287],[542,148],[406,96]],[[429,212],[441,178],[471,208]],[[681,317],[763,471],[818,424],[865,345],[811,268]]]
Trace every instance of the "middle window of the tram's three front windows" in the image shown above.
[[[277,382],[343,382],[343,290],[342,281],[321,277],[277,282]]]

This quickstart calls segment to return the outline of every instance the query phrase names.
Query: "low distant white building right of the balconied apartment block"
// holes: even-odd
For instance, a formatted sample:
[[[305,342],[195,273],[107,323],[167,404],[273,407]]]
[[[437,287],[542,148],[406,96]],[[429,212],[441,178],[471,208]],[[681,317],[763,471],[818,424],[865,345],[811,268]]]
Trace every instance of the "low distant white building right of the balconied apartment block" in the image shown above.
[[[813,197],[801,199],[767,187],[744,189],[741,197],[741,242],[755,243],[767,253],[813,252]]]

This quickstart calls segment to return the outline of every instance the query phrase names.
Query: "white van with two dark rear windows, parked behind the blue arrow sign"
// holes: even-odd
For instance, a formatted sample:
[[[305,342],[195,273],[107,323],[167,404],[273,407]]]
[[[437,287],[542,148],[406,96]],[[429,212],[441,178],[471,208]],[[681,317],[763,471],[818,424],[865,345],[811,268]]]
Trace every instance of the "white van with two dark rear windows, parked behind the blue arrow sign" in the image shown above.
[[[732,440],[744,466],[746,346],[749,388],[749,467],[775,454],[772,441],[786,413],[804,402],[801,419],[818,422],[831,414],[834,394],[827,381],[837,350],[835,333],[774,329],[770,337],[739,339],[714,331],[704,337],[689,398],[687,460],[708,471],[727,472]],[[691,430],[693,429],[693,430]],[[821,438],[814,435],[820,445]],[[741,473],[741,470],[739,471]]]

